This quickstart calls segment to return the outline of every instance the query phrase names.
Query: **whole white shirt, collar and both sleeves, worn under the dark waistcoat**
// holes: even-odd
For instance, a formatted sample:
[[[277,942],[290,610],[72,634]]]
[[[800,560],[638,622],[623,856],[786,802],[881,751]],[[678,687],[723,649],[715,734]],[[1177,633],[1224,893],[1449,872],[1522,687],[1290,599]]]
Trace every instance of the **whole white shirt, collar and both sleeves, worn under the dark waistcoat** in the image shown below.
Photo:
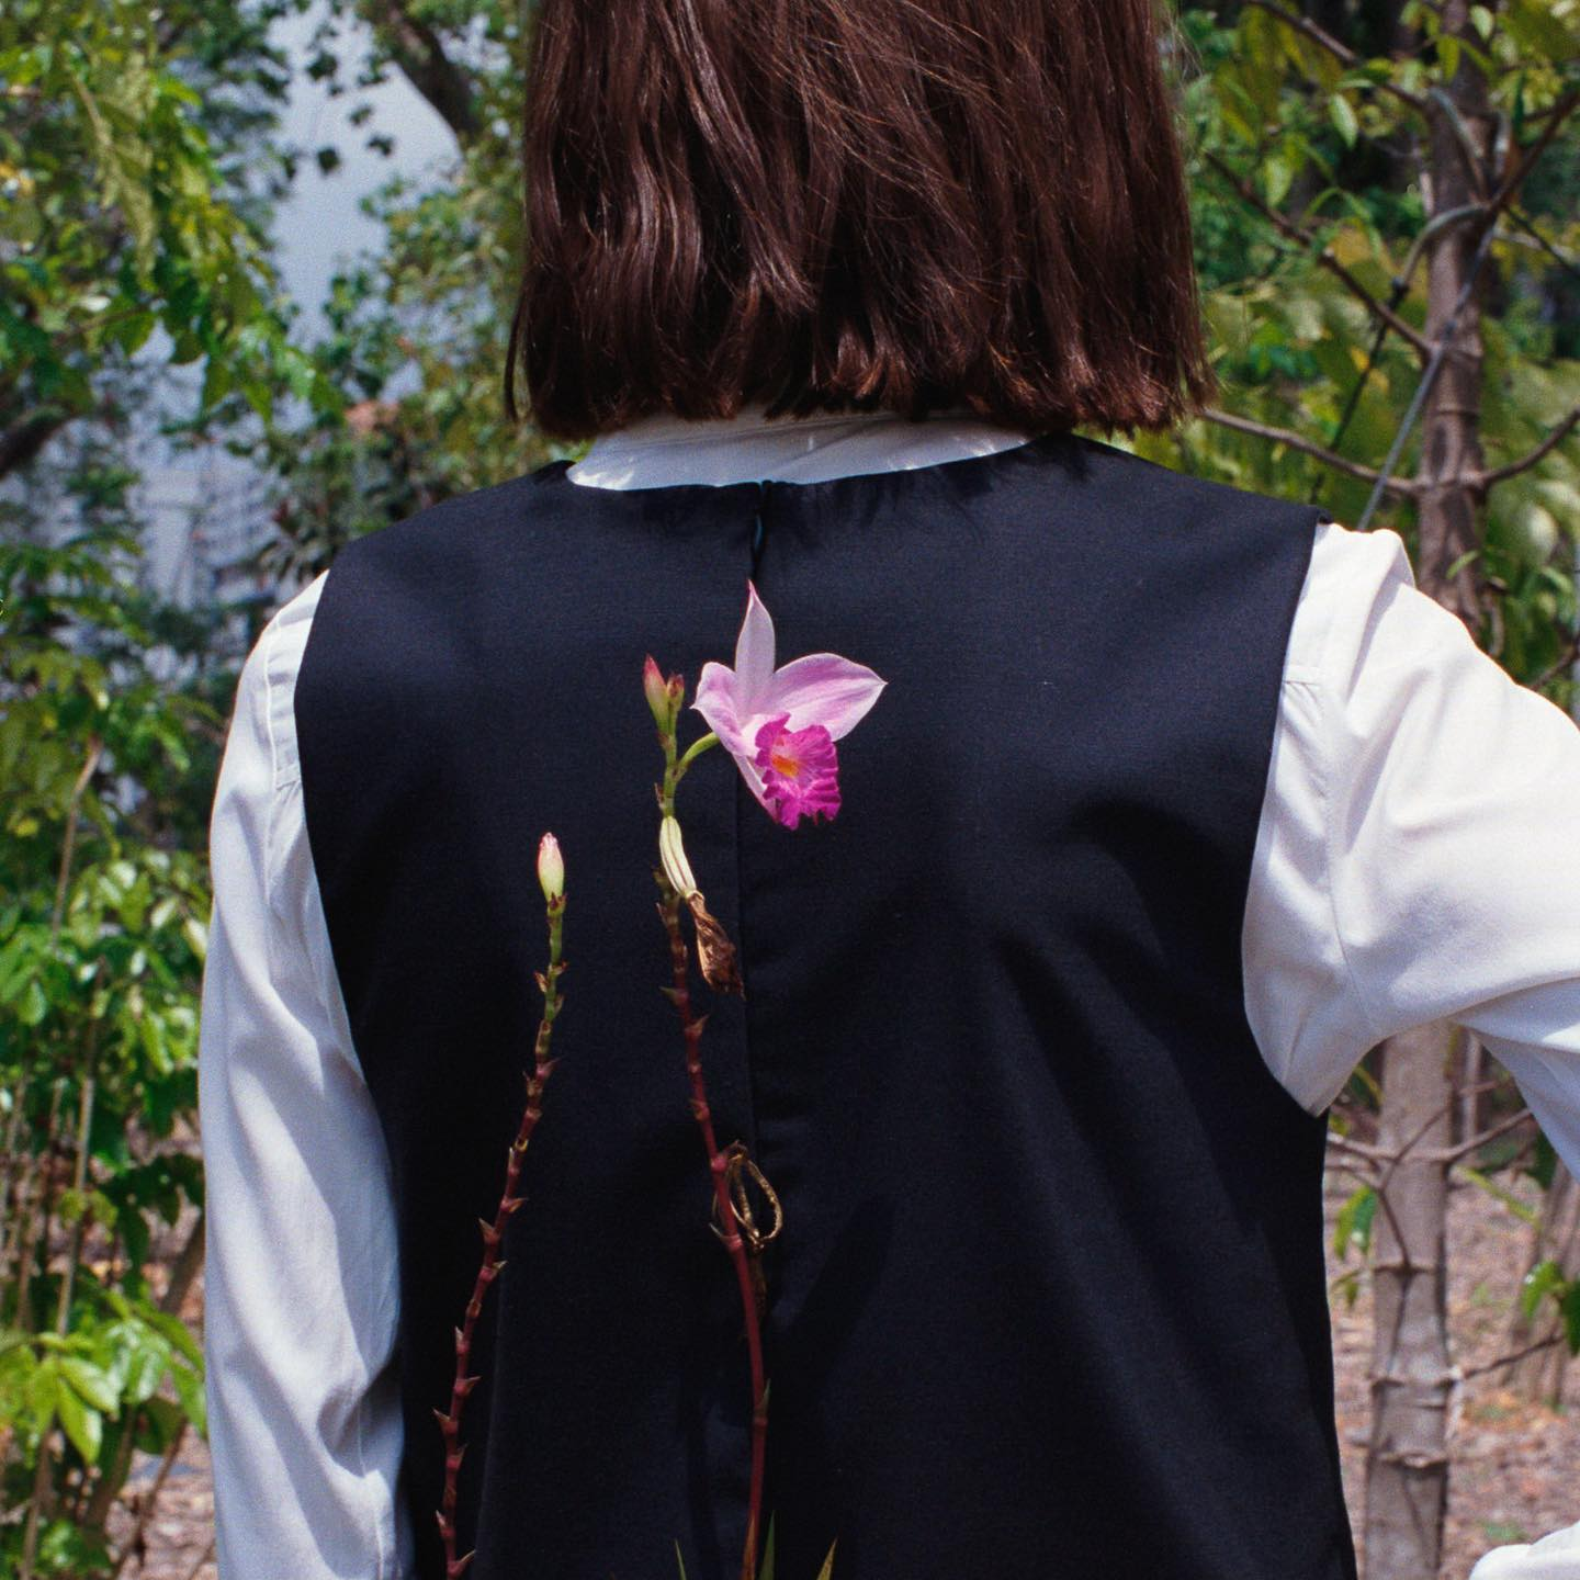
[[[815,482],[1029,436],[950,412],[660,416],[592,488]],[[199,1109],[220,1580],[412,1580],[395,1496],[389,1157],[308,850],[292,686],[324,577],[248,654],[210,822]],[[1242,934],[1245,1013],[1313,1114],[1386,1036],[1477,1035],[1580,1174],[1580,728],[1414,586],[1403,540],[1316,528],[1289,634]],[[356,1277],[329,1277],[352,1267]],[[1558,1550],[1561,1548],[1561,1550]],[[1476,1580],[1580,1580],[1580,1525]]]

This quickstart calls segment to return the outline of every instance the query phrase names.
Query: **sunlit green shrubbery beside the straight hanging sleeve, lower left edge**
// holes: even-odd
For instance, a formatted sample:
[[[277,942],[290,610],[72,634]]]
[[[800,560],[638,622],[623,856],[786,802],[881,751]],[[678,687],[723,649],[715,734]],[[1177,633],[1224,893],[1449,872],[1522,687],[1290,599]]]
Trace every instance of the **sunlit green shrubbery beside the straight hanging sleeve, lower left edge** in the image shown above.
[[[13,787],[0,811],[0,1484],[8,1506],[30,1507],[0,1528],[6,1572],[109,1574],[107,1512],[133,1452],[205,1430],[180,1289],[156,1299],[149,1264],[156,1226],[202,1204],[191,1119],[209,899],[180,792],[194,735],[220,720],[150,672],[128,550],[107,534],[0,547]]]

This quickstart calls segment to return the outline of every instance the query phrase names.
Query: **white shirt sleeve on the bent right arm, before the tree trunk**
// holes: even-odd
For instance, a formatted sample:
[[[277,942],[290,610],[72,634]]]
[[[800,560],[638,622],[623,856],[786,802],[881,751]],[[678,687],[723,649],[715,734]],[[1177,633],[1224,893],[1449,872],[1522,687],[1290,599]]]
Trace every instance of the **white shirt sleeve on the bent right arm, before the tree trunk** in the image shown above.
[[[1302,591],[1243,935],[1269,1066],[1321,1112],[1375,1043],[1468,1027],[1580,1174],[1580,728],[1327,523]],[[1580,1580],[1580,1523],[1473,1580]]]

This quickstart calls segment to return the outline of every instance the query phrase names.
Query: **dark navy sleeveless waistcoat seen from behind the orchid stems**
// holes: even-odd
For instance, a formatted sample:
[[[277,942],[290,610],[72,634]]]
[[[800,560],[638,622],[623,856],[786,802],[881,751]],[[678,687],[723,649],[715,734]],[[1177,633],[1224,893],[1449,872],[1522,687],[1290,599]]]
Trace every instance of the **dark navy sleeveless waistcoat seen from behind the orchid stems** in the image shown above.
[[[888,681],[844,806],[681,787],[744,999],[702,1044],[763,1261],[779,1580],[1354,1580],[1326,1115],[1245,1019],[1240,932],[1321,514],[1070,436],[814,483],[564,463],[352,542],[295,689],[308,837],[400,1224],[400,1496],[442,1574],[453,1329],[521,1112],[539,836],[559,1065],[463,1425],[471,1580],[739,1569],[749,1373],[654,910],[643,657]],[[686,739],[705,725],[687,713]],[[711,1002],[709,1002],[711,1000]]]

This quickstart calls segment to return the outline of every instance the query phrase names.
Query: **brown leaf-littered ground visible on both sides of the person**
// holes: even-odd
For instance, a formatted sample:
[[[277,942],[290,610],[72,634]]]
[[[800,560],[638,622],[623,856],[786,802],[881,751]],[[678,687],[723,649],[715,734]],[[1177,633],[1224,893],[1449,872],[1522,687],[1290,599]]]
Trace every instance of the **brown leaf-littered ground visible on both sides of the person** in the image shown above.
[[[1510,1177],[1503,1174],[1499,1179],[1509,1183]],[[1330,1224],[1349,1188],[1343,1179],[1330,1176]],[[1512,1188],[1526,1201],[1536,1201],[1537,1191],[1529,1180],[1517,1180]],[[1509,1351],[1509,1322],[1528,1255],[1529,1229],[1474,1185],[1457,1182],[1449,1207],[1449,1297],[1455,1360],[1462,1371],[1473,1373]],[[1329,1273],[1341,1272],[1345,1264],[1334,1259],[1329,1229]],[[1359,1281],[1354,1305],[1341,1294],[1332,1305],[1338,1438],[1359,1547],[1370,1413],[1370,1281]],[[201,1285],[193,1289],[186,1316],[196,1318],[199,1311]],[[1571,1400],[1580,1394],[1577,1371],[1580,1367],[1571,1362]],[[1439,1580],[1466,1580],[1471,1566],[1490,1547],[1533,1542],[1580,1520],[1580,1411],[1528,1405],[1499,1387],[1495,1373],[1482,1373],[1460,1387],[1450,1419],[1454,1463]],[[133,1488],[145,1495],[156,1471],[155,1460],[142,1458],[133,1471]],[[133,1559],[123,1571],[125,1580],[216,1580],[213,1490],[209,1454],[201,1441],[190,1438],[172,1462],[144,1536],[142,1566]]]

